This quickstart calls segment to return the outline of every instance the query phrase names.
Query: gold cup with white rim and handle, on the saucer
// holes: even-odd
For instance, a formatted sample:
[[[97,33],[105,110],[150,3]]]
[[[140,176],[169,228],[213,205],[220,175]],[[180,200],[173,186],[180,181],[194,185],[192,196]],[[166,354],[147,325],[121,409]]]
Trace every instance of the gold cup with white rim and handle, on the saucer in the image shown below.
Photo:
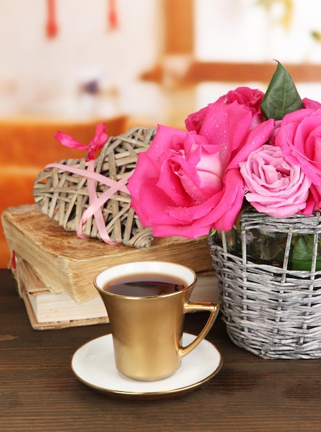
[[[108,282],[137,275],[179,277],[184,288],[169,294],[148,297],[109,293]],[[182,357],[190,353],[213,326],[219,306],[193,303],[189,298],[197,275],[191,268],[170,262],[131,262],[107,268],[94,279],[108,313],[115,365],[121,375],[132,380],[155,381],[173,375]],[[182,346],[184,314],[208,311],[208,320],[195,340]]]

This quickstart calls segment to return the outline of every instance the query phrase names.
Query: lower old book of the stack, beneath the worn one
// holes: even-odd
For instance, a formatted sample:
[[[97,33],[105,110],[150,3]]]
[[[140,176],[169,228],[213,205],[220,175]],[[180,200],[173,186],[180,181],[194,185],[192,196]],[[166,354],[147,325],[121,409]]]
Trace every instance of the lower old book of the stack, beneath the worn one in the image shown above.
[[[66,293],[51,293],[30,264],[18,255],[12,273],[35,330],[108,322],[106,308],[100,297],[78,304]],[[197,278],[191,301],[219,302],[215,275]]]

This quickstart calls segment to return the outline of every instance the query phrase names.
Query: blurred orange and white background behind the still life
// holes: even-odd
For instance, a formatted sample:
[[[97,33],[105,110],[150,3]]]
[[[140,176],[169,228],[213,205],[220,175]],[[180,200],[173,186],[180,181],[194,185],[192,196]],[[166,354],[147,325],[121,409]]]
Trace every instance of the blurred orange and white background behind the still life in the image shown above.
[[[320,0],[0,0],[0,29],[0,213],[33,204],[46,164],[84,157],[57,130],[184,128],[232,88],[264,91],[273,59],[321,101]]]

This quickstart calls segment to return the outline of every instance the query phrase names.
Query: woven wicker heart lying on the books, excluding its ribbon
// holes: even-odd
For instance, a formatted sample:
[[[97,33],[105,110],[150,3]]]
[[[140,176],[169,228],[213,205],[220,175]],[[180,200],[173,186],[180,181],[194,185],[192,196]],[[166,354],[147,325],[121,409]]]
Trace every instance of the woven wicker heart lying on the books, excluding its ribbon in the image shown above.
[[[95,173],[119,181],[136,166],[138,154],[146,151],[155,136],[155,128],[131,128],[122,135],[110,137],[97,159]],[[39,209],[56,220],[66,230],[77,231],[81,216],[90,205],[86,177],[68,172],[68,166],[86,169],[85,159],[65,159],[66,170],[45,168],[35,180],[33,195]],[[99,197],[108,189],[106,184],[96,182]],[[150,228],[144,228],[134,210],[130,208],[130,195],[117,191],[101,206],[101,212],[110,239],[125,246],[147,248],[153,235]],[[90,217],[82,226],[86,237],[101,239],[95,217]]]

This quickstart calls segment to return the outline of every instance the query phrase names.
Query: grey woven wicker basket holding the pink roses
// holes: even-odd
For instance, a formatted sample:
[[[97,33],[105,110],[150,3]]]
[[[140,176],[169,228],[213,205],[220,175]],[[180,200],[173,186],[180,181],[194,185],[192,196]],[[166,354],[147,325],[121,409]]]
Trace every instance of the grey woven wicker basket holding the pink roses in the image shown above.
[[[260,243],[259,234],[268,236],[270,245],[280,244],[275,233],[284,245],[281,262],[253,256],[251,246]],[[231,231],[209,237],[224,321],[237,346],[265,359],[321,357],[320,233],[320,213],[275,219],[252,209],[240,218],[239,247]],[[299,235],[312,244],[304,271],[293,269],[291,258]]]

